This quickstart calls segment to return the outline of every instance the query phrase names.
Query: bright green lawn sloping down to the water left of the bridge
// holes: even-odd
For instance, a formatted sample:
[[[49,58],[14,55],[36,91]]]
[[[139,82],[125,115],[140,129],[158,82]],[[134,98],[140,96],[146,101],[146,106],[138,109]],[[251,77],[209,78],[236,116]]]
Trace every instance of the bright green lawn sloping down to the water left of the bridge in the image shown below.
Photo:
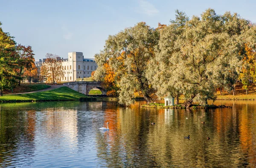
[[[29,94],[4,95],[0,97],[0,102],[32,102],[32,101],[65,101],[65,100],[92,99],[68,87],[61,87],[49,91],[41,91]],[[81,100],[81,99],[80,99]]]

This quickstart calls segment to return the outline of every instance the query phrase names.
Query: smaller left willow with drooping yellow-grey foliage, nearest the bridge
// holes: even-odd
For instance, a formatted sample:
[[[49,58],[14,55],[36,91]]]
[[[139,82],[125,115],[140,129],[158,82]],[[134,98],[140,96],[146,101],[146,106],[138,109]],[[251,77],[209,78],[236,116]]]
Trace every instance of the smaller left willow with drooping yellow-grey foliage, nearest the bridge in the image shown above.
[[[104,64],[108,62],[115,73],[119,86],[119,103],[133,103],[134,92],[141,91],[147,103],[153,102],[150,97],[152,88],[145,77],[148,62],[154,57],[154,47],[159,34],[146,23],[141,22],[106,40],[104,49],[95,55],[98,68],[95,80],[102,80],[106,74]]]

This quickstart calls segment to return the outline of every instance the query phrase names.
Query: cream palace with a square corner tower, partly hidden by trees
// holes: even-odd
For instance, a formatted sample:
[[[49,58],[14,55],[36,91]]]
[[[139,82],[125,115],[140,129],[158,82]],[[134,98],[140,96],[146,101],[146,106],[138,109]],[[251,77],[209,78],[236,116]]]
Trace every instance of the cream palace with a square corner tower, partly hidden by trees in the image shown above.
[[[35,62],[35,66],[38,68],[38,75],[40,76],[41,66],[46,59]],[[69,52],[68,58],[60,58],[62,62],[62,68],[64,70],[64,77],[61,81],[78,81],[82,78],[91,77],[92,71],[95,71],[97,64],[93,58],[84,58],[82,52]]]

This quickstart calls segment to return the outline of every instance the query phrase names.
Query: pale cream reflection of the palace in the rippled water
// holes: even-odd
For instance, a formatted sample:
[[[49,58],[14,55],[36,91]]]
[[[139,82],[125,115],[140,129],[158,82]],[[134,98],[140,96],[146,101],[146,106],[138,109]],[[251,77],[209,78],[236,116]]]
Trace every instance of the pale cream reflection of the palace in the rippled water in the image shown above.
[[[47,109],[46,121],[43,124],[46,125],[49,140],[54,140],[55,144],[77,146],[77,110]]]

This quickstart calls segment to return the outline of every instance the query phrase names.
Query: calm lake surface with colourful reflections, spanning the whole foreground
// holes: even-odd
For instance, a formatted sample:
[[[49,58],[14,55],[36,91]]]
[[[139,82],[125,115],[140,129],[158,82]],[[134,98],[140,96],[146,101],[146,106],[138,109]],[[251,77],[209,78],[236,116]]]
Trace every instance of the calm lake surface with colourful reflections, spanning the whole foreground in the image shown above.
[[[0,104],[0,167],[256,167],[256,101],[216,101],[233,108],[214,110],[142,104]],[[99,131],[106,122],[110,131]]]

